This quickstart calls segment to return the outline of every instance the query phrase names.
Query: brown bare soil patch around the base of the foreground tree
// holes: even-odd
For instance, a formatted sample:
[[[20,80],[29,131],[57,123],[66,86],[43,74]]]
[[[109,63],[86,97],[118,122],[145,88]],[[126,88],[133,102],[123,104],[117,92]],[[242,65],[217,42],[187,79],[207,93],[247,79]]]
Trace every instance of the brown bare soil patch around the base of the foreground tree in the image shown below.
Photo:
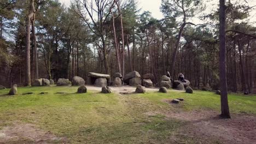
[[[150,112],[156,115],[159,112]],[[161,113],[166,118],[184,121],[177,136],[170,137],[170,143],[180,143],[182,137],[190,137],[196,143],[256,143],[256,117],[253,115],[231,115],[231,119],[219,118],[215,111],[170,111]]]

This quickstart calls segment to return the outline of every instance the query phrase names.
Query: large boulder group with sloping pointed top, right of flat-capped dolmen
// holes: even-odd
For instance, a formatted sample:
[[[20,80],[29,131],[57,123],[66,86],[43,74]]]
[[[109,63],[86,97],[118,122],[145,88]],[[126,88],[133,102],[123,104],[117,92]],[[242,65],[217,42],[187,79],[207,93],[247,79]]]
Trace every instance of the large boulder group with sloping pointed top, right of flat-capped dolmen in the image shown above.
[[[130,86],[141,85],[141,75],[137,71],[131,71],[125,75],[124,82]]]

